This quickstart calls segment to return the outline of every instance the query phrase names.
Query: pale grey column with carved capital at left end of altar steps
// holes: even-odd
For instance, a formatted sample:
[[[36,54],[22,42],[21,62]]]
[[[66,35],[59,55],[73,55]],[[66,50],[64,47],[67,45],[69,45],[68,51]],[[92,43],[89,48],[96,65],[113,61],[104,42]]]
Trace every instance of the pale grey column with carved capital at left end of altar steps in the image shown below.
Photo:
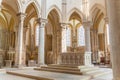
[[[39,48],[38,48],[38,66],[45,65],[45,24],[46,19],[39,18]]]

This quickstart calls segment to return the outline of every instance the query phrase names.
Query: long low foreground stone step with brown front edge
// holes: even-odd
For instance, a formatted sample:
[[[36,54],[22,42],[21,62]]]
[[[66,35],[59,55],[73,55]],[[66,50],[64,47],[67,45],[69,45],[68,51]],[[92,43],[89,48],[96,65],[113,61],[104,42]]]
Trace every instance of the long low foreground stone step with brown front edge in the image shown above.
[[[87,75],[73,75],[63,74],[49,71],[37,71],[37,70],[16,70],[8,71],[10,75],[16,75],[21,77],[34,78],[35,80],[90,80],[91,77]]]

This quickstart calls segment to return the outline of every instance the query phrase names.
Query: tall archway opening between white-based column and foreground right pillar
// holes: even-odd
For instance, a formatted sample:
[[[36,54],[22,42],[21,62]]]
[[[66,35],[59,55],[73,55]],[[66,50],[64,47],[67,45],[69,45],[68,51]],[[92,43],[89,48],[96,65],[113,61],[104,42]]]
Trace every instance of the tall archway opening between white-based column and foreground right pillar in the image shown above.
[[[98,6],[95,6],[92,11],[93,27],[91,28],[91,47],[93,63],[109,63],[110,53],[109,44],[107,44],[108,28],[105,22],[105,12]]]

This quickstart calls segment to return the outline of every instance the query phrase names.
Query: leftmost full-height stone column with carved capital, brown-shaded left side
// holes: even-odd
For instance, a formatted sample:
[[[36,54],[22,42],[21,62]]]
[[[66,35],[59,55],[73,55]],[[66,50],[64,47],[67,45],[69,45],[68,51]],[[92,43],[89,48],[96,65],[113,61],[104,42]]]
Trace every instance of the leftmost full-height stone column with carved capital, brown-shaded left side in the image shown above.
[[[23,49],[23,30],[24,30],[24,19],[26,17],[25,13],[18,13],[17,14],[19,19],[19,26],[18,26],[18,42],[17,42],[17,49],[16,49],[16,66],[21,68],[25,65],[25,57],[24,57],[24,49]]]

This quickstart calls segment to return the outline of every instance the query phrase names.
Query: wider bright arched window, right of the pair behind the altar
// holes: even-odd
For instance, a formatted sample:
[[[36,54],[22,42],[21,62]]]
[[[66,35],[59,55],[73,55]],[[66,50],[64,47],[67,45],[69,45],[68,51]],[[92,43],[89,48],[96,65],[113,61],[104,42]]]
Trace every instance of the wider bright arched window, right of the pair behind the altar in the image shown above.
[[[85,46],[85,30],[80,26],[77,30],[78,33],[78,46]]]

